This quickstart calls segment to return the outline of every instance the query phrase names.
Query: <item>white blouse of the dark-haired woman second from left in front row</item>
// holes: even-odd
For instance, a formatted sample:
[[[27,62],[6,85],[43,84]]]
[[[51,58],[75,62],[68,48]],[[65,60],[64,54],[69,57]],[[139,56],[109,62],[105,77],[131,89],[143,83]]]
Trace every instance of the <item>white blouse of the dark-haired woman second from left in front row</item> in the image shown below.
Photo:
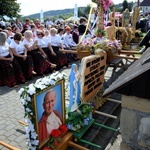
[[[18,43],[16,43],[14,40],[12,40],[12,42],[10,43],[10,48],[15,49],[17,54],[22,54],[24,53],[25,47],[22,41]]]

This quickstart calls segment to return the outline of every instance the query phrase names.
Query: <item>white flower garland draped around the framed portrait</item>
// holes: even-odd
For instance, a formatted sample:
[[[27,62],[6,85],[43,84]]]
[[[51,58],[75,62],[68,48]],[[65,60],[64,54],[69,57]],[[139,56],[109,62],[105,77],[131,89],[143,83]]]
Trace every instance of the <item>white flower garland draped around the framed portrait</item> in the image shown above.
[[[20,95],[20,101],[25,109],[25,122],[27,123],[27,126],[25,126],[25,132],[26,132],[27,145],[29,149],[36,150],[39,144],[39,140],[37,139],[38,135],[34,127],[35,119],[33,116],[35,115],[35,112],[32,105],[33,95],[39,92],[40,90],[47,88],[50,85],[55,85],[56,82],[61,79],[66,80],[67,79],[66,74],[56,72],[44,78],[40,78],[35,82],[35,84],[32,83],[29,86],[25,86],[18,91]],[[65,85],[65,87],[67,86]],[[65,92],[65,97],[66,97],[66,93],[68,90],[67,88],[65,88],[65,90],[66,90]]]

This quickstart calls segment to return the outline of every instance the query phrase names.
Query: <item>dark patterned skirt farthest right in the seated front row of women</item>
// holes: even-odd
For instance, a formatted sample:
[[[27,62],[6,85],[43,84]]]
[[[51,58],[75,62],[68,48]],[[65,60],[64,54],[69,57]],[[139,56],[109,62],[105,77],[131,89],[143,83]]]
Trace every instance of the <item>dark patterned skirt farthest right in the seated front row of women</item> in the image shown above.
[[[59,47],[52,46],[53,51],[56,53],[56,56],[51,55],[51,62],[57,65],[58,69],[61,69],[63,66],[68,66],[68,60],[66,54],[63,54],[59,51]]]

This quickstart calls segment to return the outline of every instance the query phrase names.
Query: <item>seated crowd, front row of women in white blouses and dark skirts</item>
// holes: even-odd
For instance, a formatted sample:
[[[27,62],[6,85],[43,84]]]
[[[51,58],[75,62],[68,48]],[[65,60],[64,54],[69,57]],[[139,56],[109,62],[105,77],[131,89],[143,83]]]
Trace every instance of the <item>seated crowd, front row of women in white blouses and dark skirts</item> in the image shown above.
[[[0,86],[17,87],[33,79],[68,67],[76,55],[61,52],[70,50],[79,43],[85,31],[85,18],[80,24],[54,25],[50,20],[42,24],[19,19],[11,26],[0,28]]]

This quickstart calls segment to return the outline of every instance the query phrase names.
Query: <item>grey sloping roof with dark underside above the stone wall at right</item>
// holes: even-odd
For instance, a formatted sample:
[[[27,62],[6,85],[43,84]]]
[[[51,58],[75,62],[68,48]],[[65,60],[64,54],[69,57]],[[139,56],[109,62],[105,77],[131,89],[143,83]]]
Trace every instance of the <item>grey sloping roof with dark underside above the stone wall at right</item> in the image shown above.
[[[104,91],[150,99],[150,48]]]

